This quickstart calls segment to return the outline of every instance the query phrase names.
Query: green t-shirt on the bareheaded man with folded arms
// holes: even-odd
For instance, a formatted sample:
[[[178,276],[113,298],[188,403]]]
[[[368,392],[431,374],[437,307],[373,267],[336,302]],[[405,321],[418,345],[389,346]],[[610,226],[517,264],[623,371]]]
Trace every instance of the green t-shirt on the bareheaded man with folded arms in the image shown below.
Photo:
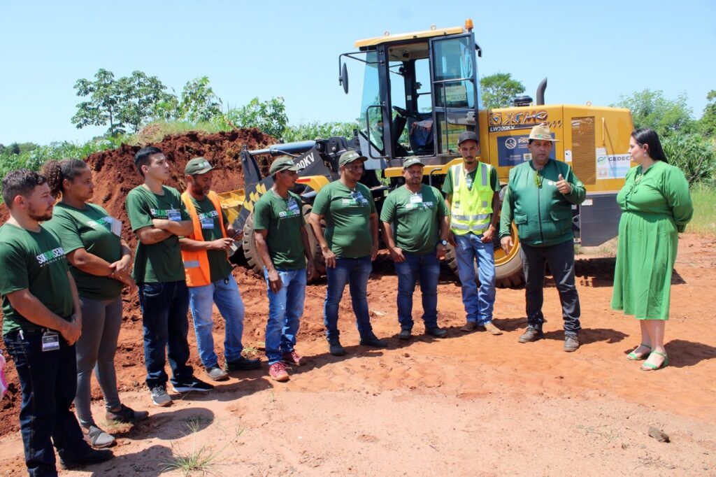
[[[153,226],[153,218],[190,221],[179,191],[162,186],[158,196],[144,186],[137,186],[127,194],[125,206],[132,231]],[[145,245],[137,241],[132,276],[137,283],[181,281],[185,279],[178,236],[171,235],[157,244]]]

